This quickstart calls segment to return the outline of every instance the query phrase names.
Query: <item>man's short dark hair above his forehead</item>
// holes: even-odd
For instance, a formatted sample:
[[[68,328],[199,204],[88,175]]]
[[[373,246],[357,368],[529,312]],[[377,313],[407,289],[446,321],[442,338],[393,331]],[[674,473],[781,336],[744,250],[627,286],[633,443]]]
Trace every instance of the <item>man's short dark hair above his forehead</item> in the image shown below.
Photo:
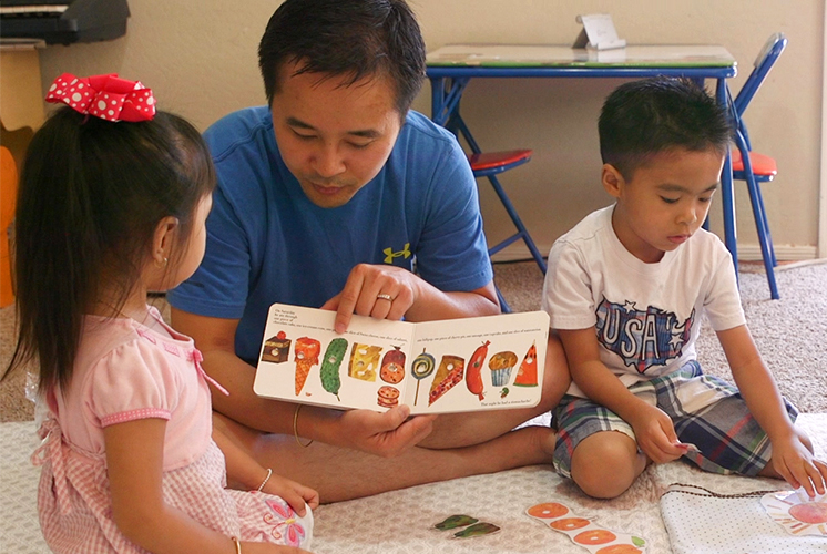
[[[296,74],[345,76],[346,85],[388,76],[404,116],[425,81],[425,40],[404,0],[286,0],[258,44],[269,105],[292,62],[303,64]]]

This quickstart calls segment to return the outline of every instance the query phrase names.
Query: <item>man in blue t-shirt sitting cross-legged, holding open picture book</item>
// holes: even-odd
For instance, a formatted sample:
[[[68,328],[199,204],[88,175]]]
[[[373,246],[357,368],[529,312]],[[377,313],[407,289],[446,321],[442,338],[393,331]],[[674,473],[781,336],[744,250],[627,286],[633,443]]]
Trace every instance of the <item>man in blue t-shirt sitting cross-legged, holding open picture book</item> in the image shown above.
[[[532,410],[439,419],[408,419],[405,406],[306,406],[299,417],[299,404],[254,394],[273,302],[336,310],[338,331],[353,314],[418,321],[500,311],[468,161],[453,135],[409,111],[425,47],[405,2],[287,0],[258,53],[269,107],[205,133],[218,177],[206,255],[169,294],[173,326],[229,390],[213,397],[216,428],[323,501],[548,461],[549,429],[509,431],[552,408],[565,378],[547,377],[553,390]],[[551,366],[564,371],[550,346]],[[299,437],[318,442],[303,449]]]

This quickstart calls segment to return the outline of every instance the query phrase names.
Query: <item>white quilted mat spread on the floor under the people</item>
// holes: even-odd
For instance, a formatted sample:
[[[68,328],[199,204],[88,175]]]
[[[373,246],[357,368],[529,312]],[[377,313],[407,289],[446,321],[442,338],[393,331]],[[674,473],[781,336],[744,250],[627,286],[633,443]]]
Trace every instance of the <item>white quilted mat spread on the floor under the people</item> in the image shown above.
[[[802,414],[799,424],[827,458],[827,413]],[[29,455],[37,447],[33,422],[0,424],[0,551],[47,553],[38,526],[35,495],[39,470]],[[624,495],[613,501],[583,496],[547,466],[414,486],[316,511],[313,551],[318,554],[585,554],[571,540],[528,517],[531,505],[559,502],[575,514],[612,531],[646,538],[649,554],[671,552],[657,504],[670,483],[691,483],[719,493],[783,488],[774,480],[711,475],[683,463],[650,468]],[[432,525],[453,514],[468,514],[502,530],[489,536],[450,538]]]

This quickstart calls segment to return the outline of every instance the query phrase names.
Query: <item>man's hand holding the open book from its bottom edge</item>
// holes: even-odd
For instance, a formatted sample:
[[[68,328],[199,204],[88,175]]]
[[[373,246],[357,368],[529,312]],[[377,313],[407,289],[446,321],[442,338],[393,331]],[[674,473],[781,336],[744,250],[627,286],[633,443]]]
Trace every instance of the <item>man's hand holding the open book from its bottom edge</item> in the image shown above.
[[[417,416],[408,419],[410,408],[402,404],[385,413],[372,410],[341,412],[334,434],[349,447],[363,452],[391,458],[414,447],[433,429],[436,416]],[[336,441],[331,441],[334,443]]]

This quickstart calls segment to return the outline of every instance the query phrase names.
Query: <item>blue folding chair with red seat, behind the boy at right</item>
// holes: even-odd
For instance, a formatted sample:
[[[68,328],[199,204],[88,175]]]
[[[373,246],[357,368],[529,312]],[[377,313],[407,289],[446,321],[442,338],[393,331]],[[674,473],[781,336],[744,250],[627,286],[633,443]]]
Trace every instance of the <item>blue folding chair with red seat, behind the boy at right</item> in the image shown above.
[[[753,72],[742,86],[738,95],[731,102],[731,113],[735,123],[735,148],[732,151],[733,179],[745,181],[749,192],[749,202],[753,206],[753,217],[755,218],[755,228],[758,233],[758,243],[760,245],[760,255],[764,259],[764,268],[767,273],[769,284],[769,295],[773,299],[778,299],[778,286],[775,281],[775,249],[773,248],[773,237],[769,235],[769,223],[767,222],[764,199],[760,195],[758,183],[773,181],[778,173],[775,160],[772,157],[753,152],[749,142],[749,134],[743,116],[749,101],[758,92],[762,83],[766,79],[769,70],[775,64],[778,57],[782,55],[787,45],[787,38],[784,33],[773,34],[762,48],[758,57],[755,59]],[[725,219],[729,218],[729,211],[724,211]],[[735,225],[735,222],[725,220],[725,225]]]

